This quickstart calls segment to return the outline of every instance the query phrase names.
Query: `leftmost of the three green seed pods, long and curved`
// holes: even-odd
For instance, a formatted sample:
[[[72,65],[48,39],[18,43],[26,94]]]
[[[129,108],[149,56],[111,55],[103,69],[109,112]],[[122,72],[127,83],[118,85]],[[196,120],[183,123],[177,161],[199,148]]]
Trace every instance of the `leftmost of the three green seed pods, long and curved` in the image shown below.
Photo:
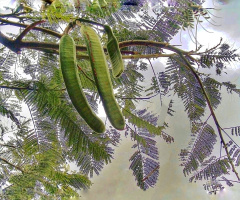
[[[74,107],[94,131],[103,133],[105,125],[92,111],[82,90],[76,65],[75,42],[69,35],[62,36],[59,55],[63,79]]]

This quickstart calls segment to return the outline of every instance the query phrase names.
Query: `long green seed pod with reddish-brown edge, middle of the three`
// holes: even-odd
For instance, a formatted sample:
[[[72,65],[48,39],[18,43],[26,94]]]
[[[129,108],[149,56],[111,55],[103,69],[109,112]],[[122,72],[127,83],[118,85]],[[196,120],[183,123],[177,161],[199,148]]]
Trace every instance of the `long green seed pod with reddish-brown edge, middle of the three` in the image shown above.
[[[106,56],[104,54],[99,37],[97,33],[89,26],[82,25],[80,31],[84,36],[87,45],[94,79],[105,112],[113,127],[118,130],[123,130],[125,121],[115,100]]]

